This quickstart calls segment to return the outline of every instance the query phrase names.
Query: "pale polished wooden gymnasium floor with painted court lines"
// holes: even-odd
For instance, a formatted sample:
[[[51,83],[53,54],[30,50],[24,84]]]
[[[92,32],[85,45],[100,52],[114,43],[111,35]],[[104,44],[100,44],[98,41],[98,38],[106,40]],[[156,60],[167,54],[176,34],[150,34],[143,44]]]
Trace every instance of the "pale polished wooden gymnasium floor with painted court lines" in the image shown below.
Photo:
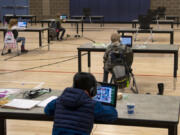
[[[98,43],[110,42],[110,35],[121,27],[131,27],[130,24],[85,24],[84,36],[74,38],[76,34],[75,26],[63,24],[66,28],[66,37],[63,41],[51,41],[50,51],[47,46],[38,48],[38,33],[20,33],[19,36],[26,37],[27,54],[17,57],[15,52],[0,55],[0,87],[1,88],[51,88],[63,90],[72,85],[73,75],[78,71],[77,47],[94,40]],[[40,27],[40,24],[30,27]],[[154,27],[157,27],[154,25]],[[160,28],[170,28],[169,25],[160,25]],[[180,44],[180,26],[175,25],[174,43]],[[81,34],[81,33],[80,33]],[[155,42],[148,39],[150,34],[139,34],[138,41],[134,44],[169,44],[169,35],[154,34]],[[47,45],[47,33],[43,33],[43,45]],[[3,34],[0,33],[0,50],[3,47]],[[87,56],[82,57],[82,71],[88,72]],[[103,53],[92,53],[91,72],[98,81],[102,81],[103,76]],[[173,55],[170,54],[135,54],[133,61],[133,73],[137,81],[139,93],[156,94],[158,92],[157,83],[163,82],[165,85],[164,95],[180,96],[180,81],[177,78],[176,90],[173,87]],[[179,71],[178,71],[179,77]],[[129,88],[124,92],[132,93]],[[18,124],[16,124],[18,123]],[[7,135],[50,135],[52,122],[39,121],[16,121],[8,120]],[[178,128],[180,130],[180,126]],[[126,127],[111,125],[94,125],[93,135],[166,135],[165,129],[153,129],[142,127]]]

